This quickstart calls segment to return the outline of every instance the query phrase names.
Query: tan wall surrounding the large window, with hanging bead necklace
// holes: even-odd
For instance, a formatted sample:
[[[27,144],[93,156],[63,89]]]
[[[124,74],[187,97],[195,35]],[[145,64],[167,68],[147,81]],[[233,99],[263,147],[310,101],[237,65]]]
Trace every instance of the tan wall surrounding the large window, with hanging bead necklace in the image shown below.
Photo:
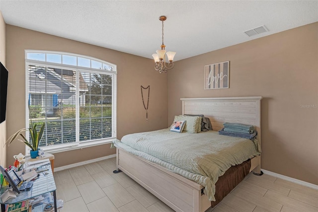
[[[167,75],[156,72],[152,60],[7,24],[6,67],[10,71],[6,122],[8,136],[25,126],[25,49],[71,52],[116,64],[118,139],[128,133],[167,127]],[[148,122],[141,99],[141,85],[151,87]],[[13,162],[12,155],[24,152],[24,147],[24,144],[14,142],[7,148],[8,164]],[[56,153],[55,167],[110,154],[115,154],[110,144]]]

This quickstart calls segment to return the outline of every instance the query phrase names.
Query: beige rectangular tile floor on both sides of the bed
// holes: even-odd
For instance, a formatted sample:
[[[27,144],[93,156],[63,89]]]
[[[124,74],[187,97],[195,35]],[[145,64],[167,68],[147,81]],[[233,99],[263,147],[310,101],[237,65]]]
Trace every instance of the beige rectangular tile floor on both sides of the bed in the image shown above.
[[[116,159],[54,173],[60,212],[173,212],[124,173]],[[207,212],[318,212],[318,190],[269,175],[246,176],[217,207]]]

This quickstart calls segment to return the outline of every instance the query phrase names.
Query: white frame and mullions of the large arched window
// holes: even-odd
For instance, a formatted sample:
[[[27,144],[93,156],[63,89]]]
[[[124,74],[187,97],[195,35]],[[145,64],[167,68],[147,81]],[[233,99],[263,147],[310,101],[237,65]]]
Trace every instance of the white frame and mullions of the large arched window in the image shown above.
[[[95,68],[86,68],[86,67],[79,67],[79,66],[73,66],[73,65],[67,65],[62,64],[63,63],[63,57],[62,57],[62,63],[52,63],[52,62],[46,62],[46,61],[39,61],[39,60],[31,60],[27,59],[28,53],[40,53],[40,54],[60,54],[67,55],[67,56],[75,56],[75,57],[81,57],[86,58],[92,61],[97,61],[102,64],[106,64],[108,66],[111,66],[113,68],[113,71],[109,70],[102,70],[102,69],[95,69]],[[56,51],[41,51],[41,50],[25,50],[25,126],[26,128],[29,128],[29,108],[28,108],[28,95],[29,95],[29,74],[28,74],[28,68],[29,65],[38,65],[38,66],[45,66],[50,68],[59,68],[59,69],[72,69],[76,71],[77,73],[82,72],[93,72],[93,73],[99,73],[99,74],[105,74],[108,73],[112,76],[112,136],[109,138],[101,138],[101,139],[95,139],[93,141],[80,141],[79,142],[79,130],[76,131],[76,141],[73,143],[67,143],[67,144],[57,144],[57,145],[50,145],[50,146],[42,146],[41,149],[43,149],[45,152],[49,153],[58,153],[58,152],[64,152],[64,151],[70,151],[75,149],[81,149],[91,146],[97,146],[102,144],[108,144],[112,143],[113,140],[117,138],[117,66],[115,64],[93,58],[88,57],[84,55],[79,54],[73,54],[68,52],[56,52]],[[79,83],[79,75],[77,74],[77,84]],[[79,90],[79,86],[76,87],[77,90]],[[76,127],[78,129],[79,127],[79,91],[76,93]],[[26,131],[26,137],[29,137],[28,131]],[[25,148],[26,154],[29,154],[30,148],[26,146]]]

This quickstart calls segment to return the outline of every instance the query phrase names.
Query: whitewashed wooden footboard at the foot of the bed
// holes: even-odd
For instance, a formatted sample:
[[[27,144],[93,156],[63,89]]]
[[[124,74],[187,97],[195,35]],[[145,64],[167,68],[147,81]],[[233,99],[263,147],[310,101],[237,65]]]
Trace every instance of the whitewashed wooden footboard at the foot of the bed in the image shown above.
[[[177,212],[204,212],[211,202],[196,182],[117,148],[117,167]]]

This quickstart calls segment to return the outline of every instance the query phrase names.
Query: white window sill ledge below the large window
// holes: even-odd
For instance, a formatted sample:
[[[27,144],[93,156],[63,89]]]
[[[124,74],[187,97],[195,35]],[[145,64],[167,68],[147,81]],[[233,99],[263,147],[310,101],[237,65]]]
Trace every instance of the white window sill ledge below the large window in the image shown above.
[[[109,143],[112,143],[113,140],[115,140],[115,139],[116,138],[107,139],[107,140],[99,140],[99,141],[90,141],[90,142],[79,143],[79,145],[60,147],[60,148],[48,148],[48,147],[43,148],[42,147],[41,149],[43,149],[44,152],[54,154],[54,153],[67,152],[67,151],[72,151],[72,150],[77,150],[77,149],[83,149],[83,148],[88,148],[88,147],[93,147],[93,146],[109,144]],[[26,150],[26,152],[28,153],[27,155],[29,155],[30,149]]]

